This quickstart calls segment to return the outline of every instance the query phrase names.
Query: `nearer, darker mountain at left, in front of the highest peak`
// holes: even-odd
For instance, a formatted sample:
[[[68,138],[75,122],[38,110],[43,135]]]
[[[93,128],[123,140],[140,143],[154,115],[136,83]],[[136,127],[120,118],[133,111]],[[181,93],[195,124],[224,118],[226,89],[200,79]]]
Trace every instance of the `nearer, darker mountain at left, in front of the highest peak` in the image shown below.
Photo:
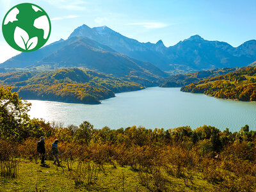
[[[167,76],[151,63],[129,58],[106,45],[81,36],[60,40],[29,54],[22,53],[4,62],[2,66],[44,69],[83,67],[117,77],[140,76],[151,80]]]

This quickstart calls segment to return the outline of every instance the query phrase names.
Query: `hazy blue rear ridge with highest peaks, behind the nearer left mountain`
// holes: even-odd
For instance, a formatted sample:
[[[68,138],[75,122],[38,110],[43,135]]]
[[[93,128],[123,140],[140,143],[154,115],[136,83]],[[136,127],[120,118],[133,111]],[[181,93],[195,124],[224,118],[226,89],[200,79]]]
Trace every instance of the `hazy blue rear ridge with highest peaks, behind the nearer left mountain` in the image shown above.
[[[208,41],[194,35],[174,46],[165,47],[161,40],[156,44],[140,43],[106,26],[89,28],[86,25],[75,29],[70,37],[72,36],[86,36],[108,45],[115,51],[148,61],[166,71],[242,67],[256,60],[255,40],[232,47],[225,42]]]

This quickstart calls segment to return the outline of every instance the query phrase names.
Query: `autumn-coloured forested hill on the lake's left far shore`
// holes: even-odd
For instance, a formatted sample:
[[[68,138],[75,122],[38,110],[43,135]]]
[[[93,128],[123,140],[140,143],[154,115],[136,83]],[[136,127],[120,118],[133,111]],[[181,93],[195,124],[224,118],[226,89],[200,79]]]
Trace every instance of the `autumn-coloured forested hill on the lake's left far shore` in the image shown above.
[[[134,80],[140,78],[130,77]],[[143,79],[145,83],[150,83]],[[93,70],[63,68],[51,72],[24,71],[0,74],[1,86],[12,86],[22,99],[60,100],[99,104],[115,93],[141,90],[142,84]]]

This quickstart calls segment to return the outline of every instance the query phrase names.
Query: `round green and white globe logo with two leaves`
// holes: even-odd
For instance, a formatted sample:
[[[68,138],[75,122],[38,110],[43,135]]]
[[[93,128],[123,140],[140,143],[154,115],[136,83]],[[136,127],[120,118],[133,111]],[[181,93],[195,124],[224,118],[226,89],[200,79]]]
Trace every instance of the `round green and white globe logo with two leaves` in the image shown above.
[[[4,16],[2,24],[6,42],[22,52],[40,49],[49,39],[51,21],[47,13],[31,3],[13,6]]]

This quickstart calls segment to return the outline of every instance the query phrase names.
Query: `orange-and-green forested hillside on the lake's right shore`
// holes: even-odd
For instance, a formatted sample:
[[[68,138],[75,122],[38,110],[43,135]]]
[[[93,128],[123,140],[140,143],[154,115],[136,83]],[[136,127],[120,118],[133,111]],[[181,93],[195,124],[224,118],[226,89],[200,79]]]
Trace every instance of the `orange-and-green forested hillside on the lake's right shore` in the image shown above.
[[[256,101],[256,67],[240,68],[230,74],[188,84],[180,90],[223,99]]]

